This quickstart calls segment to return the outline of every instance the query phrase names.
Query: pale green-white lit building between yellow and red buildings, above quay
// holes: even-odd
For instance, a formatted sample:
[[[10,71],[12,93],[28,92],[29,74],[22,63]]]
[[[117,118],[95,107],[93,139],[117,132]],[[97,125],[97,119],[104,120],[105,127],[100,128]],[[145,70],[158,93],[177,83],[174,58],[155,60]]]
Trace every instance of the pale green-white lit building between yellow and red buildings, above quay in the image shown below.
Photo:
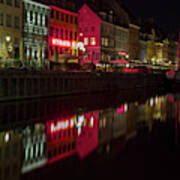
[[[48,59],[49,7],[23,0],[24,60],[41,64]]]

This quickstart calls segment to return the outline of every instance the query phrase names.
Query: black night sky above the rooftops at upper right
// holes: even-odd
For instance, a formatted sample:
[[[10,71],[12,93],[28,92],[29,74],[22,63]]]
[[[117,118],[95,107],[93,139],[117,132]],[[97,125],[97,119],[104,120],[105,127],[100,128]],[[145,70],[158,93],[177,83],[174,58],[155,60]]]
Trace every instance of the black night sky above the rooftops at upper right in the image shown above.
[[[123,0],[123,2],[141,19],[152,17],[166,32],[178,32],[180,30],[178,1]]]

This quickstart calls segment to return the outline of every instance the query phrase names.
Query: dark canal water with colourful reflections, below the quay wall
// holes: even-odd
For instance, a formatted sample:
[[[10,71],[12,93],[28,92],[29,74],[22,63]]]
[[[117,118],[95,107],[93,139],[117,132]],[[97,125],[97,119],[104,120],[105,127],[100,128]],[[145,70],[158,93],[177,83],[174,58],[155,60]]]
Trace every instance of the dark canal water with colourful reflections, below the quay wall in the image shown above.
[[[0,104],[0,180],[179,177],[180,94],[119,92]]]

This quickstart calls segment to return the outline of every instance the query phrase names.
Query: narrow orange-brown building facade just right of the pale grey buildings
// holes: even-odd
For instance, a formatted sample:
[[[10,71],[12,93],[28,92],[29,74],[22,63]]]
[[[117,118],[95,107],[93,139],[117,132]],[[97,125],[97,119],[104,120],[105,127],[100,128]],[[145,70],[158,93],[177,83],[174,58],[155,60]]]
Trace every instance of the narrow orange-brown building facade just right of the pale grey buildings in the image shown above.
[[[130,59],[138,59],[139,56],[139,26],[129,24],[128,50]]]

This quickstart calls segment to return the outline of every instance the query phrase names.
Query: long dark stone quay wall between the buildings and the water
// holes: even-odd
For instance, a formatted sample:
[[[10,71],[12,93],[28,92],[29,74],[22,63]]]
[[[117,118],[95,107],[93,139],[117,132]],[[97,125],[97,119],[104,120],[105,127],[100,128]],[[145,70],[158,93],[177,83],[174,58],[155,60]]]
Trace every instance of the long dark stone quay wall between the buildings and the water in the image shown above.
[[[0,71],[0,101],[162,87],[163,74]]]

